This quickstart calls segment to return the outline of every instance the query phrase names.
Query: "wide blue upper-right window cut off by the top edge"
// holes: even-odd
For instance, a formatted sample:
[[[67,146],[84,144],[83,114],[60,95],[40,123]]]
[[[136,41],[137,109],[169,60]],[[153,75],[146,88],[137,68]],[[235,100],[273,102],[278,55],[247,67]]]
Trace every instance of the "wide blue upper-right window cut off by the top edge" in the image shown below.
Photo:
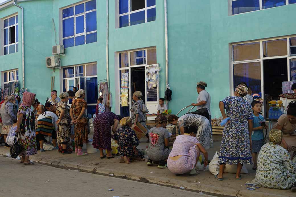
[[[296,0],[230,0],[232,15],[294,4]]]

